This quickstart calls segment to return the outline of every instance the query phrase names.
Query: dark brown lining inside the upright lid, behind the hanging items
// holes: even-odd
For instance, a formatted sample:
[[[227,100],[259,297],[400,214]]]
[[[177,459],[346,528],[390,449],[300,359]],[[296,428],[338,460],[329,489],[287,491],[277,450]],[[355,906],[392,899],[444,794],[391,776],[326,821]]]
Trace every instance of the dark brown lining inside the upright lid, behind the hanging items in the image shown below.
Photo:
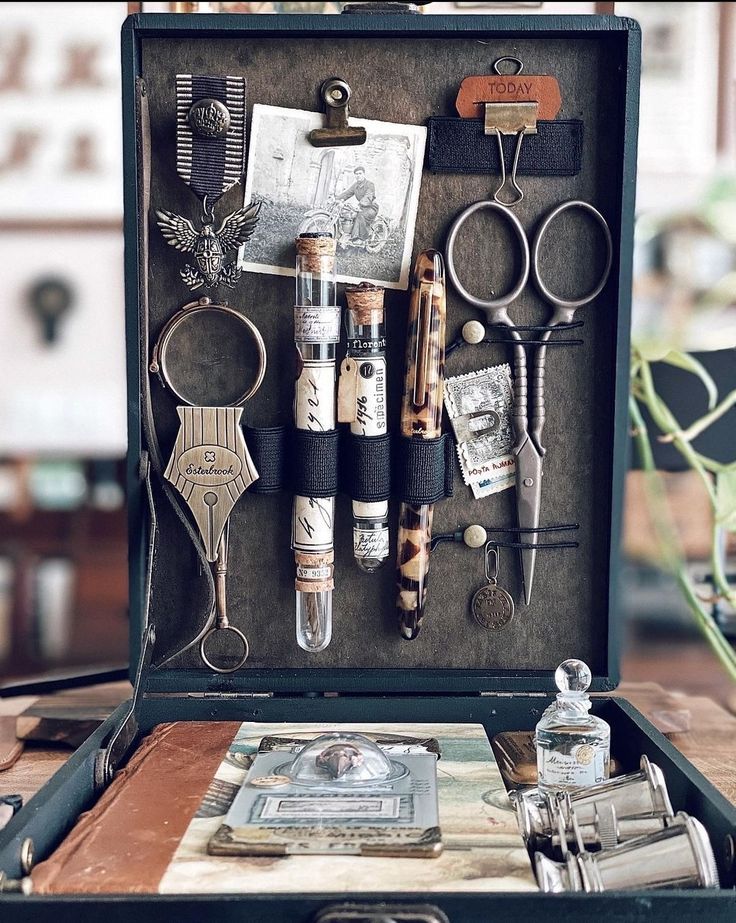
[[[461,80],[467,75],[491,73],[494,61],[503,55],[520,58],[525,73],[557,77],[562,93],[559,118],[584,123],[580,174],[521,177],[524,200],[516,207],[516,214],[531,236],[555,205],[566,199],[584,199],[605,216],[614,240],[608,285],[576,316],[584,326],[570,333],[582,339],[582,344],[550,348],[547,356],[547,454],[541,525],[579,524],[574,535],[555,536],[572,537],[579,548],[538,553],[529,606],[523,604],[517,552],[502,549],[499,583],[514,596],[517,611],[509,627],[490,632],[476,625],[470,612],[473,593],[485,583],[482,551],[463,544],[441,545],[431,559],[422,632],[417,640],[407,642],[397,631],[393,551],[377,574],[358,570],[352,556],[350,499],[341,495],[336,503],[332,643],[322,653],[308,654],[295,641],[294,559],[289,546],[292,498],[288,493],[247,493],[235,508],[230,531],[229,615],[247,634],[251,650],[246,666],[235,674],[235,683],[247,683],[253,671],[285,670],[293,677],[295,670],[319,674],[321,668],[330,668],[334,680],[335,668],[339,668],[365,679],[366,688],[376,688],[375,678],[380,676],[366,672],[371,669],[414,670],[402,674],[404,688],[423,672],[425,679],[423,684],[417,679],[417,687],[434,687],[438,692],[443,682],[433,682],[432,676],[439,676],[441,671],[470,671],[468,675],[475,675],[470,685],[475,688],[498,687],[496,678],[508,673],[525,675],[528,689],[550,688],[550,671],[570,656],[580,657],[591,666],[599,678],[599,688],[605,686],[606,677],[615,675],[614,655],[609,651],[609,621],[615,617],[612,543],[618,540],[616,511],[621,502],[625,442],[625,413],[620,407],[625,401],[625,373],[621,369],[628,362],[629,323],[629,293],[619,290],[618,253],[627,137],[627,33],[623,28],[620,32],[591,31],[570,37],[537,33],[526,38],[483,32],[453,37],[449,31],[432,37],[371,31],[359,36],[248,31],[215,35],[205,31],[194,37],[144,36],[140,66],[152,133],[151,212],[147,216],[150,345],[172,314],[197,297],[188,292],[179,276],[186,255],[167,245],[153,214],[161,208],[193,219],[200,214],[199,201],[176,173],[176,74],[244,75],[249,124],[255,103],[318,109],[320,85],[331,76],[350,84],[353,116],[424,124],[430,116],[455,115],[454,100]],[[315,149],[315,157],[318,154]],[[498,182],[497,175],[433,175],[425,167],[413,254],[427,247],[444,250],[453,218],[470,203],[489,198]],[[218,218],[242,204],[242,189],[242,185],[236,186],[221,200],[216,208]],[[266,208],[264,205],[264,216]],[[511,287],[518,273],[519,255],[508,226],[496,216],[486,215],[474,216],[468,222],[456,252],[466,287],[487,298],[491,291],[500,293]],[[600,233],[591,227],[580,212],[570,213],[552,227],[542,259],[545,279],[554,291],[575,297],[595,284],[604,247]],[[297,227],[284,226],[282,231],[283,246],[292,247]],[[630,230],[625,229],[625,234],[629,239]],[[627,278],[626,267],[622,278]],[[223,291],[228,290],[220,289],[217,295],[224,300]],[[268,352],[263,386],[245,408],[244,420],[250,425],[271,426],[292,419],[293,293],[292,278],[254,273],[244,274],[237,289],[228,291],[229,303],[260,328]],[[344,305],[342,285],[338,297]],[[408,292],[387,292],[389,426],[393,433],[399,427],[407,310]],[[544,324],[550,313],[531,283],[511,308],[518,324]],[[448,341],[473,318],[481,319],[481,315],[458,297],[448,280]],[[203,361],[201,337],[206,335],[198,332],[192,336],[178,356],[180,369],[205,396],[211,371]],[[338,363],[343,352],[344,341]],[[468,346],[448,359],[446,375],[511,360],[505,344]],[[142,365],[140,374],[148,374]],[[178,427],[177,401],[155,379],[151,393],[158,438],[168,458]],[[170,658],[195,638],[209,614],[204,581],[189,539],[166,498],[155,490],[159,538],[150,608],[157,632],[154,664]],[[471,523],[487,528],[513,527],[514,500],[513,489],[474,500],[456,468],[454,496],[436,506],[434,531],[455,531]],[[392,549],[397,508],[394,499]],[[136,598],[135,592],[132,598]],[[202,670],[197,646],[168,659],[164,669]],[[313,679],[312,688],[323,686],[318,678]],[[326,688],[336,688],[336,684]]]

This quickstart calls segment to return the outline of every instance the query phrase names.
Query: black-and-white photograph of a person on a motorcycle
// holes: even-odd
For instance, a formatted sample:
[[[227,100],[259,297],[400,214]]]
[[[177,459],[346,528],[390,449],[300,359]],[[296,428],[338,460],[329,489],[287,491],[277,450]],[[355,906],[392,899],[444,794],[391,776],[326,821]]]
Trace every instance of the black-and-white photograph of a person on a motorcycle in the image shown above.
[[[405,289],[426,129],[352,119],[366,129],[365,144],[314,147],[309,132],[323,121],[317,112],[253,107],[245,202],[262,204],[240,268],[294,275],[294,238],[332,231],[338,281]]]

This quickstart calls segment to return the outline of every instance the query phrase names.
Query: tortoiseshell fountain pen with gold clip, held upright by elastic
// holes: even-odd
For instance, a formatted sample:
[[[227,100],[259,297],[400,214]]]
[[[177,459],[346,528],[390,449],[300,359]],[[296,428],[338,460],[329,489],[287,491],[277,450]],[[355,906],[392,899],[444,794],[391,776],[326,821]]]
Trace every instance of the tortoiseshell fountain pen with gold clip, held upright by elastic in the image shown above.
[[[445,373],[445,266],[436,250],[417,257],[409,302],[406,372],[401,404],[401,435],[436,439],[442,428]],[[419,634],[427,601],[430,504],[402,503],[397,551],[399,630],[412,640]]]

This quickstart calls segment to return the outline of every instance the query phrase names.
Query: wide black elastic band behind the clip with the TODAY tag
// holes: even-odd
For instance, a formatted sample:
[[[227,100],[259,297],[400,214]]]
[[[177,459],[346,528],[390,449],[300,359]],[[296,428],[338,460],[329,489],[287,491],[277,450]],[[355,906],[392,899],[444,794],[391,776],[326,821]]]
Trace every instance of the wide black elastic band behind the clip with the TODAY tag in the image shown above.
[[[483,119],[437,116],[427,121],[427,165],[433,173],[500,173],[498,139],[487,135]],[[516,137],[502,135],[506,163],[514,158]],[[537,122],[537,133],[521,144],[519,176],[576,176],[583,157],[580,119]]]

